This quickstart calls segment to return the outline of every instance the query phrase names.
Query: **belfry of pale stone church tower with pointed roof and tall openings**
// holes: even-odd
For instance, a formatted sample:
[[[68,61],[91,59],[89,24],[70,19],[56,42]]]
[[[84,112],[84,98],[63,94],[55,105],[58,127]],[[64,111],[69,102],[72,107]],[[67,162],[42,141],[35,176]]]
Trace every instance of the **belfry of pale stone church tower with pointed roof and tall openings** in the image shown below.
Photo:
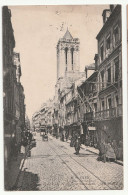
[[[67,29],[57,44],[57,79],[74,77],[79,72],[79,39],[73,38]]]

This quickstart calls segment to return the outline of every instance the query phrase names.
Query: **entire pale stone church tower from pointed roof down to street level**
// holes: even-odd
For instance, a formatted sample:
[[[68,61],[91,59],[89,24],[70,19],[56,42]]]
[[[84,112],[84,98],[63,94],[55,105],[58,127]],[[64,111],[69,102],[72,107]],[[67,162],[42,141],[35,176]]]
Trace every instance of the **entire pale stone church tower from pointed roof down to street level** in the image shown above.
[[[65,132],[66,124],[66,97],[76,80],[85,77],[85,72],[80,72],[79,50],[80,41],[73,38],[67,29],[63,38],[57,43],[57,83],[55,86],[55,102],[59,105],[56,111],[58,133]]]

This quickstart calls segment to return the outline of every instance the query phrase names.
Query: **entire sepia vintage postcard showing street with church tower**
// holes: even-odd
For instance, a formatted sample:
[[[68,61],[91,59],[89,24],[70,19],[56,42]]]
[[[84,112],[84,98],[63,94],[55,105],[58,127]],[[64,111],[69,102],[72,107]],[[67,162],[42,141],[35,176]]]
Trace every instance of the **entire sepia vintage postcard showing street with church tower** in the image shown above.
[[[4,189],[123,190],[122,7],[2,7]]]

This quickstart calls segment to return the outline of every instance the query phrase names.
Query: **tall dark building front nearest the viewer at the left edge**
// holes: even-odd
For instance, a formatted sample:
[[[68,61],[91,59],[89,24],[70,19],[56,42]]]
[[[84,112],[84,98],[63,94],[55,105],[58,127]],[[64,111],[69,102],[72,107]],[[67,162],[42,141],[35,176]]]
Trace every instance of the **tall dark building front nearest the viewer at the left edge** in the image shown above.
[[[13,65],[15,38],[11,24],[11,12],[3,7],[3,107],[4,107],[4,155],[5,168],[12,155],[12,140],[15,126],[14,83],[16,67]]]

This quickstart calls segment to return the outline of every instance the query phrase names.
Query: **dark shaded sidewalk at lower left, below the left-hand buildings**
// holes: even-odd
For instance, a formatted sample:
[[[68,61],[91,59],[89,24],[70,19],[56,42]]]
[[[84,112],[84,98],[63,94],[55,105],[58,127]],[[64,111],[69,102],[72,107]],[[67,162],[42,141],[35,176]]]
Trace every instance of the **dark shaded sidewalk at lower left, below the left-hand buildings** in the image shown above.
[[[11,159],[11,161],[9,162],[8,169],[5,170],[4,176],[4,189],[6,191],[13,190],[25,157],[26,153],[19,153],[16,158]]]

